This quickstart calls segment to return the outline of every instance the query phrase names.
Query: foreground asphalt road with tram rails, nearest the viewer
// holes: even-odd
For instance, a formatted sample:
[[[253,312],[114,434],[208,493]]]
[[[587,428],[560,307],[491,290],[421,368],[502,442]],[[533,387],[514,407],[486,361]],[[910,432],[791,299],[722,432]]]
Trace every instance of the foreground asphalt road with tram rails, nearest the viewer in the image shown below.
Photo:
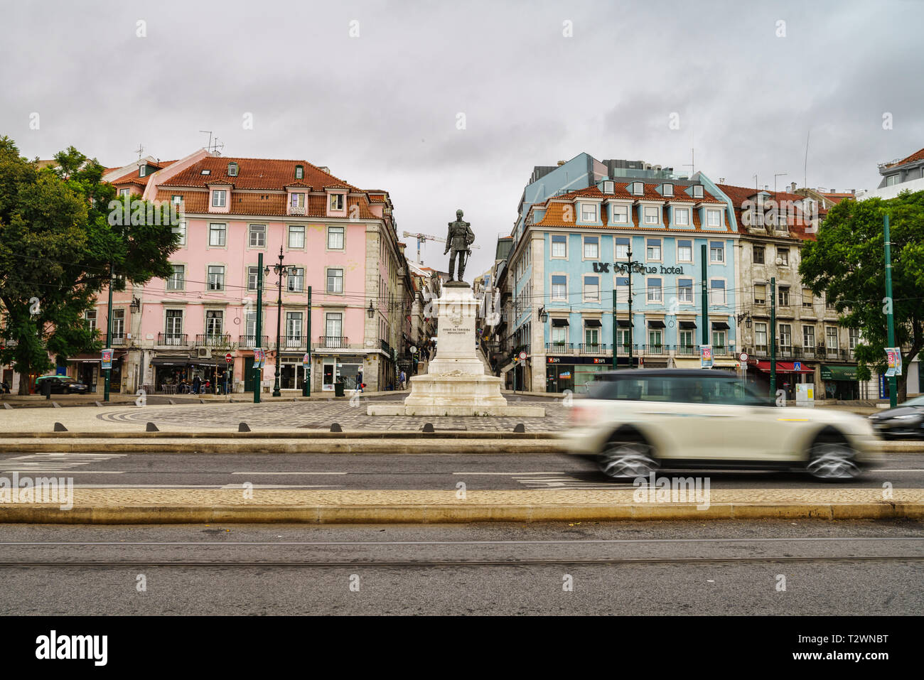
[[[922,559],[911,521],[6,525],[0,613],[910,615]]]

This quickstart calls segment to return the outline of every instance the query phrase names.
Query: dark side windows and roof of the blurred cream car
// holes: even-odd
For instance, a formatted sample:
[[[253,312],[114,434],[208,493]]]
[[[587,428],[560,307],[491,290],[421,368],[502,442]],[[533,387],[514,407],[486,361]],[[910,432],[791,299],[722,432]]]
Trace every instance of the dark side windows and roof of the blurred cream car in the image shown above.
[[[606,376],[590,385],[591,399],[771,406],[769,397],[734,376]]]

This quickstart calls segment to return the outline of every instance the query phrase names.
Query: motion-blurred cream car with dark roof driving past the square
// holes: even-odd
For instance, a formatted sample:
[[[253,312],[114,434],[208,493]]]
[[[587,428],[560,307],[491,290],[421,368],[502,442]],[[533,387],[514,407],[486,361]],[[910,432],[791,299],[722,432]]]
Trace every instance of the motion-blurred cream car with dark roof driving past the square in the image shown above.
[[[776,407],[723,370],[607,371],[575,399],[572,419],[570,453],[596,457],[612,478],[656,468],[778,468],[851,480],[877,441],[867,419]]]

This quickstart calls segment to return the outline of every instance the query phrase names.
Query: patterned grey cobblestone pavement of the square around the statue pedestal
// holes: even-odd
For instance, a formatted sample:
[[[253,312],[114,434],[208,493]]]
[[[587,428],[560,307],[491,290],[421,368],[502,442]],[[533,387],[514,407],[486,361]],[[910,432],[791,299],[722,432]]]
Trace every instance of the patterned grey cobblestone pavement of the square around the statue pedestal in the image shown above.
[[[568,422],[567,407],[551,400],[508,398],[511,405],[545,407],[545,418],[497,418],[461,416],[368,416],[366,407],[372,402],[292,402],[268,404],[213,404],[208,407],[143,407],[111,410],[96,414],[97,419],[111,423],[144,424],[158,427],[237,429],[246,422],[252,429],[316,428],[328,430],[338,423],[344,430],[419,430],[432,423],[437,430],[511,431],[523,423],[528,431],[561,431]]]

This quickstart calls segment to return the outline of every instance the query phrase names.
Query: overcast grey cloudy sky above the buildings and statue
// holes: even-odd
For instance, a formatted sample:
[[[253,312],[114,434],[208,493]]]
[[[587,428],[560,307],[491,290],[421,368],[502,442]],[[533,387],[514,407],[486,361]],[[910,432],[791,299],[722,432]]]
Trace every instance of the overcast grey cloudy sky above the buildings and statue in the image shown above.
[[[387,189],[399,232],[444,237],[463,208],[481,246],[469,280],[537,164],[589,152],[681,171],[695,148],[713,180],[802,186],[810,130],[808,186],[859,189],[924,147],[916,0],[0,0],[0,17],[0,135],[24,155],[173,159],[213,130],[225,155]],[[424,262],[445,269],[442,253]]]

